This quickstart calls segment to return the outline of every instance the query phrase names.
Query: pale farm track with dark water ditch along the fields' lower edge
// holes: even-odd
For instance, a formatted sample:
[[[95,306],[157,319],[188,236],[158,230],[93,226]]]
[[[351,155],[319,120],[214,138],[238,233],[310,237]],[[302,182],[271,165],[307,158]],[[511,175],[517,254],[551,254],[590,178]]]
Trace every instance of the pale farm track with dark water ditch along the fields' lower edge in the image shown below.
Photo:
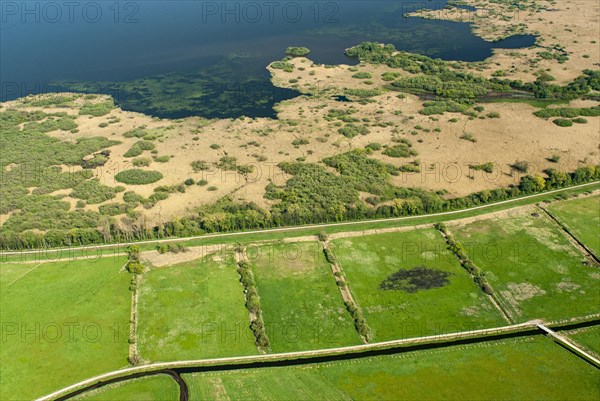
[[[598,316],[594,315],[583,318],[588,319],[586,319],[587,321],[583,323],[571,323],[570,326],[561,326],[561,330],[568,330],[571,326],[587,327],[600,324],[600,319],[598,319]],[[589,318],[592,318],[592,320],[589,320]],[[503,338],[539,335],[540,333],[545,333],[545,331],[540,328],[540,325],[544,325],[545,328],[548,328],[548,326],[554,326],[555,323],[546,324],[541,320],[530,320],[525,323],[489,329],[415,337],[313,351],[155,363],[104,373],[40,397],[37,399],[37,401],[67,400],[74,395],[82,394],[90,389],[98,388],[105,384],[159,373],[170,374],[169,372],[172,371],[181,374],[275,366],[294,366],[342,359],[370,357],[376,355],[390,355],[426,348],[448,347],[458,344],[480,343]]]

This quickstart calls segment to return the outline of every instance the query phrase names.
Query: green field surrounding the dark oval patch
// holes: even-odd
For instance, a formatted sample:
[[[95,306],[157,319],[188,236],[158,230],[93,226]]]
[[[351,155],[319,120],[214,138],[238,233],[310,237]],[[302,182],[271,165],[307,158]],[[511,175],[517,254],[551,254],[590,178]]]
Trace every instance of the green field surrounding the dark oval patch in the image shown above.
[[[333,243],[355,300],[373,329],[374,341],[506,324],[434,229]],[[420,265],[449,273],[449,284],[415,293],[380,289],[392,273]]]

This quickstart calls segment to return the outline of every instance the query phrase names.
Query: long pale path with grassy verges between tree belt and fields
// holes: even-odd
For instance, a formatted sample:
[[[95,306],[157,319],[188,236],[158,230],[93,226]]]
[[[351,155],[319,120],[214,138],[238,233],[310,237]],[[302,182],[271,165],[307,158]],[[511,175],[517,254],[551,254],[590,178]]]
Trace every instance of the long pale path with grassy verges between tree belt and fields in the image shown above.
[[[204,235],[194,235],[190,237],[176,237],[176,238],[163,238],[163,239],[153,239],[153,240],[142,240],[142,241],[132,241],[132,242],[120,242],[114,244],[98,244],[92,246],[79,246],[72,248],[37,248],[30,249],[27,251],[1,251],[0,255],[24,255],[36,253],[39,251],[45,252],[61,252],[61,251],[77,251],[80,249],[83,250],[91,250],[91,249],[103,249],[103,248],[114,248],[119,246],[129,246],[129,245],[143,245],[143,244],[159,244],[165,242],[176,242],[176,241],[191,241],[197,239],[208,239],[208,238],[218,238],[218,237],[232,237],[232,236],[244,236],[244,235],[253,235],[253,234],[261,234],[261,233],[275,233],[275,232],[287,232],[287,231],[299,231],[299,230],[309,230],[309,229],[319,229],[319,228],[327,228],[327,227],[342,227],[342,226],[354,226],[360,224],[373,224],[373,223],[385,223],[385,222],[397,222],[397,221],[405,221],[405,220],[414,220],[414,219],[422,219],[422,218],[432,218],[432,217],[442,217],[442,216],[452,216],[460,213],[468,213],[474,210],[481,210],[486,208],[492,208],[494,206],[505,205],[515,202],[520,202],[527,199],[533,199],[542,196],[548,196],[555,193],[570,191],[579,188],[585,188],[592,185],[598,185],[600,181],[587,182],[584,184],[578,184],[571,187],[553,189],[551,191],[540,192],[537,194],[526,195],[518,198],[506,199],[499,202],[488,203],[485,205],[473,206],[466,209],[459,210],[450,210],[447,212],[439,212],[439,213],[430,213],[430,214],[420,214],[414,216],[400,216],[400,217],[389,217],[389,218],[380,218],[380,219],[367,219],[367,220],[356,220],[356,221],[343,221],[338,223],[324,223],[324,224],[309,224],[309,225],[301,225],[301,226],[291,226],[291,227],[277,227],[277,228],[267,228],[261,230],[252,230],[252,231],[238,231],[238,232],[226,232],[226,233],[212,233],[212,234],[204,234]]]

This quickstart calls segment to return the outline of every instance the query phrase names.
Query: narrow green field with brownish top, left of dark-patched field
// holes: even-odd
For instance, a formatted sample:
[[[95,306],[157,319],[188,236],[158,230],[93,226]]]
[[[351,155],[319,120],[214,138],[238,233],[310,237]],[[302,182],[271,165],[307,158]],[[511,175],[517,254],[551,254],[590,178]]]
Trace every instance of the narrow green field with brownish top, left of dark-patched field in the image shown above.
[[[317,242],[249,248],[273,352],[359,344]]]

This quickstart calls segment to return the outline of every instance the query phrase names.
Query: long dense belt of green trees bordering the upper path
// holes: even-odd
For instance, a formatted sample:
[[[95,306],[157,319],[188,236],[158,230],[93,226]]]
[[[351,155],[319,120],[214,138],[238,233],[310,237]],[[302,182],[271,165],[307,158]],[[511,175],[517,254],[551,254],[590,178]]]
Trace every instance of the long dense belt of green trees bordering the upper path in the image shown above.
[[[317,174],[316,177],[320,177],[320,175]],[[321,183],[330,180],[337,183],[339,177],[333,177],[327,177]],[[294,180],[294,178],[292,177],[291,180]],[[186,237],[208,232],[240,231],[439,213],[597,180],[600,180],[600,166],[580,167],[572,173],[548,169],[545,171],[545,176],[524,176],[520,184],[516,186],[484,190],[452,199],[442,199],[434,193],[424,191],[415,192],[396,188],[393,193],[396,197],[394,201],[386,202],[377,207],[368,206],[365,202],[357,200],[352,193],[348,192],[347,186],[340,189],[344,195],[338,196],[335,193],[335,187],[312,185],[310,186],[310,193],[307,192],[301,197],[298,197],[296,192],[298,188],[291,186],[273,190],[280,192],[281,196],[278,199],[281,199],[282,202],[270,211],[263,210],[254,203],[238,204],[229,198],[224,198],[215,205],[201,209],[197,215],[175,219],[156,226],[149,226],[145,220],[138,219],[128,222],[127,227],[110,223],[100,228],[73,227],[64,230],[48,230],[45,233],[2,230],[0,232],[0,249],[19,250],[119,243],[167,237]],[[308,183],[306,177],[300,180],[300,184],[304,185],[305,183]],[[387,193],[388,190],[386,189],[384,192]],[[274,199],[277,199],[277,197],[274,197]],[[335,202],[332,202],[332,199]]]

